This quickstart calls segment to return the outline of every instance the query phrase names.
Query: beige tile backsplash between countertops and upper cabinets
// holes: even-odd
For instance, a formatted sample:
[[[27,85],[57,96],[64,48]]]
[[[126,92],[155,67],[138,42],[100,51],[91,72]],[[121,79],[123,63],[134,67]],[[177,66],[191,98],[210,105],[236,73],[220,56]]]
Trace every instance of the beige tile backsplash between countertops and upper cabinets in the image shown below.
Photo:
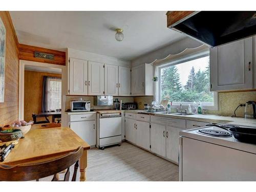
[[[69,109],[69,101],[78,100],[82,98],[83,100],[91,101],[91,106],[94,109],[113,109],[113,106],[94,106],[94,97],[93,96],[66,96],[66,110]],[[144,109],[144,103],[151,104],[154,100],[153,96],[139,96],[139,97],[114,97],[122,100],[122,102],[137,102],[138,109]],[[219,110],[207,110],[207,114],[215,114],[215,115],[224,115],[231,116],[234,113],[234,110],[241,103],[245,103],[246,101],[252,100],[256,101],[256,91],[245,91],[245,92],[222,92],[218,94],[219,98]],[[244,115],[244,107],[240,107],[236,114],[237,116]]]

